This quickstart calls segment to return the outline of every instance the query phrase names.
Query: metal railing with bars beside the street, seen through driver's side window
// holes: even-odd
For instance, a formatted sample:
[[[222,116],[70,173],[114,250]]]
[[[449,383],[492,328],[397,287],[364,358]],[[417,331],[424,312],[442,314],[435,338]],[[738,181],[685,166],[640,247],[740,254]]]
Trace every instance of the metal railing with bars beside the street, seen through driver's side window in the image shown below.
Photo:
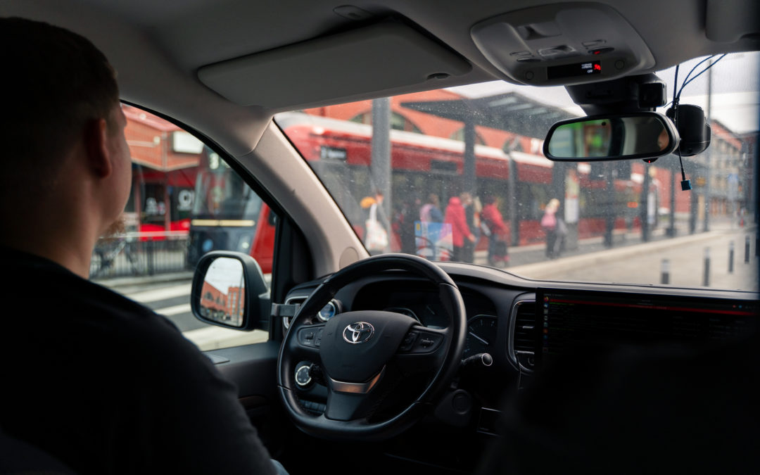
[[[188,242],[186,232],[125,233],[100,239],[90,260],[90,278],[186,271]]]

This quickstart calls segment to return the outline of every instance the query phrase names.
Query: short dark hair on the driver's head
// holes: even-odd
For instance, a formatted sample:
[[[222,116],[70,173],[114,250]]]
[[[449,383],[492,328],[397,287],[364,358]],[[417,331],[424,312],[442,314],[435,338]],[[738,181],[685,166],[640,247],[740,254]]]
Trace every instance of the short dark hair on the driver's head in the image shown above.
[[[90,40],[40,21],[0,17],[3,174],[45,174],[93,119],[115,124],[116,72]],[[16,179],[18,177],[15,177]]]

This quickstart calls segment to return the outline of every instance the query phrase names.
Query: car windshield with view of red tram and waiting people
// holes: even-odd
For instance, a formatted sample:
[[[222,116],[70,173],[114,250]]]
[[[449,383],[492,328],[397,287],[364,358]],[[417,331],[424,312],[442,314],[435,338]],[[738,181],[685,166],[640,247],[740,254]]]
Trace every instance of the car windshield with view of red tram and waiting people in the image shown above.
[[[699,60],[681,65],[679,86]],[[674,69],[657,75],[670,100]],[[756,291],[758,53],[715,62],[680,103],[701,106],[711,125],[708,150],[683,157],[691,191],[673,154],[543,157],[549,127],[585,115],[563,87],[473,84],[275,120],[371,254],[534,279]]]

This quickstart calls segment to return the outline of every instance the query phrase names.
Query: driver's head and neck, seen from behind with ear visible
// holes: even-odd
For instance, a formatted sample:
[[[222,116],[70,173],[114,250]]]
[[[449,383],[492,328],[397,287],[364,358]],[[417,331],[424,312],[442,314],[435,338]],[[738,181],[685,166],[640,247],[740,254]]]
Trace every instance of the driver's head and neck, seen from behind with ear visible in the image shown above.
[[[0,18],[0,44],[0,239],[86,275],[131,188],[115,71],[83,36],[38,21]]]

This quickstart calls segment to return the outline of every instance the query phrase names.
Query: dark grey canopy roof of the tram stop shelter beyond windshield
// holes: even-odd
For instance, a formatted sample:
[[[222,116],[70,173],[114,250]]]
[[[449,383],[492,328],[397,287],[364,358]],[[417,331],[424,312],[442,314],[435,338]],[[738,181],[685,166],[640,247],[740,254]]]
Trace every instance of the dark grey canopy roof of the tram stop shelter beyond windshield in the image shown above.
[[[533,138],[544,138],[554,122],[575,117],[565,109],[540,103],[515,92],[474,99],[405,102],[401,106],[458,122],[473,121],[475,125]]]

